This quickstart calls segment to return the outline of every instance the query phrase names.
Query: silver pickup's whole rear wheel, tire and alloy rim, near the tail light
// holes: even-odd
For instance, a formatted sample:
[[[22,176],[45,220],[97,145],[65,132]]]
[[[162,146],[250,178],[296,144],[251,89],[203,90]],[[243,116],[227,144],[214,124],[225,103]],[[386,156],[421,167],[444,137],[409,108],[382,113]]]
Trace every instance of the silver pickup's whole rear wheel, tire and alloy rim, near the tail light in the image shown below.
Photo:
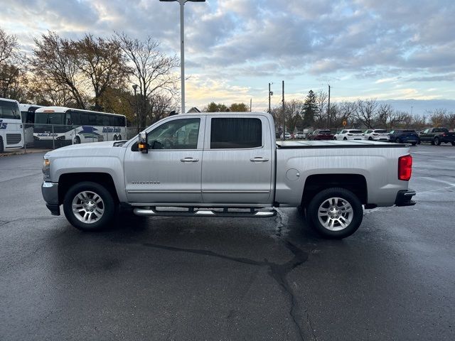
[[[311,200],[306,213],[314,229],[329,239],[350,236],[363,220],[362,203],[345,188],[322,190]]]

